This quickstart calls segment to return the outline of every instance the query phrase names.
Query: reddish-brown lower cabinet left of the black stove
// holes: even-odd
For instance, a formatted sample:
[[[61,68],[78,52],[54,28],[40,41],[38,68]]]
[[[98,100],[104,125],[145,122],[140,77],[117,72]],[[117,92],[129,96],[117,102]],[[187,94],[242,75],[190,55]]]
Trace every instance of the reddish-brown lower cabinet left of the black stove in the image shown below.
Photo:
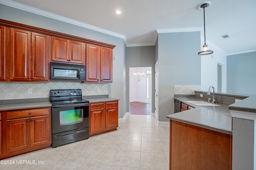
[[[0,158],[51,146],[51,107],[6,111],[4,115],[6,136],[2,137]]]

